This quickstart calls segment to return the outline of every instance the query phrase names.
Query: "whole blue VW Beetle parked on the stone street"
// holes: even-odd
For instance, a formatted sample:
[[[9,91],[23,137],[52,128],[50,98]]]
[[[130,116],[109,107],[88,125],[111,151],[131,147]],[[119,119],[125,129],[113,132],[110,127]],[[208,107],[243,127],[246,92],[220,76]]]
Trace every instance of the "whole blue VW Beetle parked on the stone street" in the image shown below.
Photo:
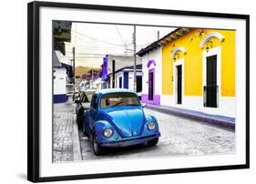
[[[97,156],[107,147],[154,146],[159,142],[158,120],[144,114],[137,94],[128,89],[97,91],[84,116],[83,130]]]

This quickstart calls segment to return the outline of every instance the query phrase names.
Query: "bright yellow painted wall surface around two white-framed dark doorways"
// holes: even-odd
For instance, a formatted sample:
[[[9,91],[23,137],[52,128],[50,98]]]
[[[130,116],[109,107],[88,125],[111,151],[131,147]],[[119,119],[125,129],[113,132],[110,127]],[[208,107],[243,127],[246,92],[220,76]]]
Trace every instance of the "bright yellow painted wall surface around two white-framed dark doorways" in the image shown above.
[[[175,57],[184,58],[184,95],[202,96],[202,56],[207,46],[221,46],[221,96],[235,96],[235,31],[206,29],[190,31],[186,36],[180,36],[177,40],[169,42],[162,49],[162,94],[173,95],[173,58],[171,51],[176,46],[183,46],[187,53],[179,52]],[[223,42],[217,38],[210,39],[212,44],[200,48],[200,42],[204,36],[211,32],[218,32],[225,37]]]

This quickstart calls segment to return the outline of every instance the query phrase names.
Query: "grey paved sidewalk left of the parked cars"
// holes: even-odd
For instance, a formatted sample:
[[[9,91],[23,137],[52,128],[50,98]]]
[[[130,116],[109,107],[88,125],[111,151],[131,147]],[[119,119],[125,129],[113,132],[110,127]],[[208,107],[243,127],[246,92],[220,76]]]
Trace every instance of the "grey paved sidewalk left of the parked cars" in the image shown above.
[[[53,162],[79,160],[80,148],[74,106],[71,103],[54,104]],[[77,145],[78,140],[78,145]],[[74,154],[75,152],[75,154]]]

